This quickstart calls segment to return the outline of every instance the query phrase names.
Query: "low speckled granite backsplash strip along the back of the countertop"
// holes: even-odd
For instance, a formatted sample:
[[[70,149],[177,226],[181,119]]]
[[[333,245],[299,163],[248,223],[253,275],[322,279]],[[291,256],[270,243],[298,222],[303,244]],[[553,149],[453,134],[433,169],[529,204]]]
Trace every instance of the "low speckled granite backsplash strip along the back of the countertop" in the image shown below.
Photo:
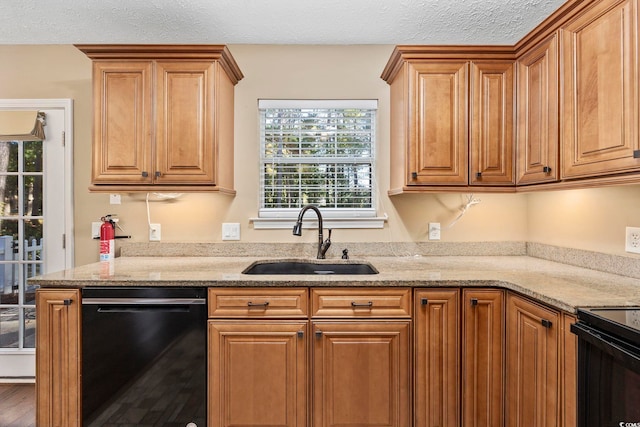
[[[349,257],[412,256],[531,256],[562,264],[640,279],[637,257],[603,254],[532,242],[351,242],[334,243],[327,258],[339,259],[342,250]],[[207,256],[313,258],[313,243],[146,243],[126,242],[120,256]]]

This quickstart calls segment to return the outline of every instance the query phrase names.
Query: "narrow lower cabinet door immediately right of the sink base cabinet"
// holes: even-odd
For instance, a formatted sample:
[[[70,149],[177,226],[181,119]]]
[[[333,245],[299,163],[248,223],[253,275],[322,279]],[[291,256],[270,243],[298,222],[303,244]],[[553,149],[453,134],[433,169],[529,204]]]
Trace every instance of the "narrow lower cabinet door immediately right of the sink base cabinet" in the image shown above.
[[[460,292],[415,292],[414,419],[416,427],[460,425]]]

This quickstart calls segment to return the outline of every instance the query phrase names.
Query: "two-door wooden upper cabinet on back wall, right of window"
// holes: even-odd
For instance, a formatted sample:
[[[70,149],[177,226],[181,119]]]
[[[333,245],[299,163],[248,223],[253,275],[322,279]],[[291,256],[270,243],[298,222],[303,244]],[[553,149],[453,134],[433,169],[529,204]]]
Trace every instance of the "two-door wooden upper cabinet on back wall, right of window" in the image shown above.
[[[396,47],[382,74],[391,86],[391,194],[515,183],[515,65],[504,57]]]

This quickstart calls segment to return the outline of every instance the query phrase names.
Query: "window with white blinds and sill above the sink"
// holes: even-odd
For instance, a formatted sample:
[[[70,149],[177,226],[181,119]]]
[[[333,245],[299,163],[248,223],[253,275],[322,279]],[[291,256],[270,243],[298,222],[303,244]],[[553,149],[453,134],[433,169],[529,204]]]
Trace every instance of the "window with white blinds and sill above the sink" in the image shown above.
[[[256,228],[289,227],[282,220],[307,204],[322,210],[327,227],[382,227],[374,188],[377,101],[260,100],[258,107]]]

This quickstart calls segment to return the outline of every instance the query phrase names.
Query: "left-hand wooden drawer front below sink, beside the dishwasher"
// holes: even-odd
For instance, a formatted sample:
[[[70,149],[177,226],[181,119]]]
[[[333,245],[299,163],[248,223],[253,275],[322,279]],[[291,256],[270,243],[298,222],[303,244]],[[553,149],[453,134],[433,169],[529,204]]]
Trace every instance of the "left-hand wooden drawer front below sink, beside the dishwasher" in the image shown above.
[[[307,289],[209,289],[209,317],[306,318]]]

